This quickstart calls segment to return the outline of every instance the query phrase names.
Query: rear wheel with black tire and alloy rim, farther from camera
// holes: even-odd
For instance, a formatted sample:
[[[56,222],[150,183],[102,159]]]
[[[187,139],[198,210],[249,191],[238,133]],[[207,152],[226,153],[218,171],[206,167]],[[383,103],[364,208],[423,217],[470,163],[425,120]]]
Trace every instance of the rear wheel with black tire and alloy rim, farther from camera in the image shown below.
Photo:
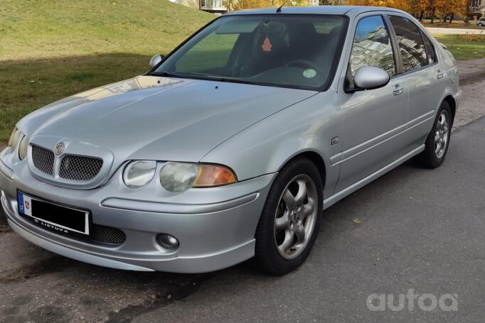
[[[444,117],[444,119],[443,119]],[[452,136],[452,110],[447,102],[439,107],[435,124],[425,141],[425,151],[416,156],[416,160],[425,168],[438,168],[447,156],[449,140]],[[438,139],[440,146],[438,149]]]

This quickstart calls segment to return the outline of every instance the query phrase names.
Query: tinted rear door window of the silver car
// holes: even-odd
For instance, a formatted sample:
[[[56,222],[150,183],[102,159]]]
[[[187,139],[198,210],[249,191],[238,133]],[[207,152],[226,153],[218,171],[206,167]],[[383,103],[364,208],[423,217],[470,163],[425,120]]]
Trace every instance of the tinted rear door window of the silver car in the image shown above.
[[[390,21],[398,37],[404,72],[428,65],[425,42],[420,28],[403,17],[390,16]]]

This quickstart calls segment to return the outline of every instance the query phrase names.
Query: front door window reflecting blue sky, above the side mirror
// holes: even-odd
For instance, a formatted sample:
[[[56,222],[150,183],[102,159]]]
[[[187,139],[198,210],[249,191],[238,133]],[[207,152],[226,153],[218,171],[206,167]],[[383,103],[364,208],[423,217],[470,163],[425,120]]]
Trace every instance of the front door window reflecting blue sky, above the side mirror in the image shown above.
[[[352,75],[363,66],[380,67],[390,76],[396,73],[393,47],[382,16],[358,22],[350,60]]]

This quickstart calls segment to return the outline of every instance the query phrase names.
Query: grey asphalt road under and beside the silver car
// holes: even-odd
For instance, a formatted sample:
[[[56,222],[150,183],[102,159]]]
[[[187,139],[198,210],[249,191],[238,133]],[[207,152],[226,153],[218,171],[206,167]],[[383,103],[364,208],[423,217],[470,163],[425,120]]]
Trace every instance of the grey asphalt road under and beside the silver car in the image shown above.
[[[0,321],[484,322],[485,117],[467,124],[485,113],[484,88],[464,87],[441,168],[405,163],[328,209],[294,273],[269,277],[250,263],[203,275],[112,270],[43,251],[4,226]],[[417,298],[404,298],[403,310],[368,307],[370,295],[397,306],[410,292]],[[427,311],[449,294],[457,307]]]

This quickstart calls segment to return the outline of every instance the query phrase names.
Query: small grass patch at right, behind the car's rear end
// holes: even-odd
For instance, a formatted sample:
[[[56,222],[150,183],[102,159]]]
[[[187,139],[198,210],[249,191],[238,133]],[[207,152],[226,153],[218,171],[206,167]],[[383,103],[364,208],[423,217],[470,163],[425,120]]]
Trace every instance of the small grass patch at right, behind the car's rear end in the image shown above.
[[[485,35],[435,35],[457,60],[485,57]]]

